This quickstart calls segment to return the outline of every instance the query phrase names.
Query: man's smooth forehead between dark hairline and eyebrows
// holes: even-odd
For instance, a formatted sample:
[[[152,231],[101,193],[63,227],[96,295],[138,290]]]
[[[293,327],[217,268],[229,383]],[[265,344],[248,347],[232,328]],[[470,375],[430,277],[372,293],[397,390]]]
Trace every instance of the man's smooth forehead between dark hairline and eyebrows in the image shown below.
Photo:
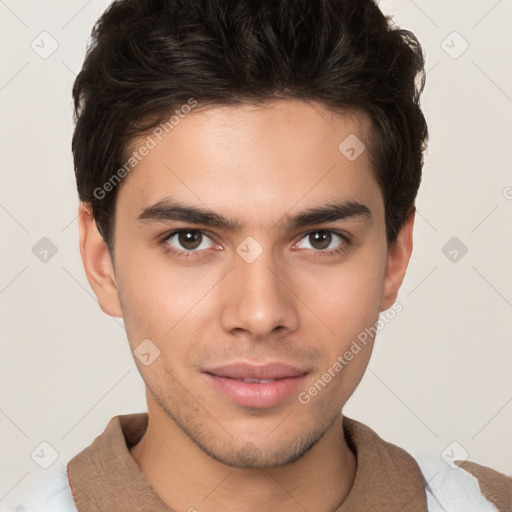
[[[116,217],[137,218],[167,196],[259,222],[326,198],[383,210],[370,131],[362,112],[298,100],[197,108],[133,141],[130,152],[151,149],[121,183]]]

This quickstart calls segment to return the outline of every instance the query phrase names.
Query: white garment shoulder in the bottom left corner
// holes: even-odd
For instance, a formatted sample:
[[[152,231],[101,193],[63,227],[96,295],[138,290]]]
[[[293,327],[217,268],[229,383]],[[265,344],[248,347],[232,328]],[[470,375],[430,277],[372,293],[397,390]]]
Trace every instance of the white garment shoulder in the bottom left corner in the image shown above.
[[[0,512],[78,512],[69,485],[67,465],[38,484],[27,499]]]

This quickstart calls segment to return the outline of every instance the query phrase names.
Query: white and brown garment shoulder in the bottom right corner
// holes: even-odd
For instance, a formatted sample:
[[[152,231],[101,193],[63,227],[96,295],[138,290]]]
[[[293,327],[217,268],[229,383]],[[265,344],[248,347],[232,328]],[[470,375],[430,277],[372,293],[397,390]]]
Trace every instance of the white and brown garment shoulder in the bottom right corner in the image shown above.
[[[426,480],[429,511],[510,512],[512,478],[474,462],[415,457]]]

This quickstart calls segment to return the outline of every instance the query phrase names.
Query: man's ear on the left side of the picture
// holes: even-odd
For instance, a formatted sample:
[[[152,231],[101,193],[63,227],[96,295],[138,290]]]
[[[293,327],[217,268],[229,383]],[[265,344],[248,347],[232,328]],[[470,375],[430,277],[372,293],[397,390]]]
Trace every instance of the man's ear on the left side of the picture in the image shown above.
[[[117,283],[107,244],[103,240],[88,204],[78,207],[80,255],[87,280],[91,285],[101,310],[110,316],[122,317]]]

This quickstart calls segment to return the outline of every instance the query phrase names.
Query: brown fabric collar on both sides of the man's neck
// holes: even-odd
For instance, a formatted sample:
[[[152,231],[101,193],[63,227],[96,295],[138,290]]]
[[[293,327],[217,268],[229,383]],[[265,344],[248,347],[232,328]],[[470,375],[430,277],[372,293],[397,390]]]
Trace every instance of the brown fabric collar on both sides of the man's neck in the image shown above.
[[[129,449],[146,432],[148,413],[118,415],[67,465],[80,512],[173,512],[147,481]],[[335,512],[427,512],[425,481],[416,461],[369,427],[343,417],[347,442],[357,458],[352,488]]]

